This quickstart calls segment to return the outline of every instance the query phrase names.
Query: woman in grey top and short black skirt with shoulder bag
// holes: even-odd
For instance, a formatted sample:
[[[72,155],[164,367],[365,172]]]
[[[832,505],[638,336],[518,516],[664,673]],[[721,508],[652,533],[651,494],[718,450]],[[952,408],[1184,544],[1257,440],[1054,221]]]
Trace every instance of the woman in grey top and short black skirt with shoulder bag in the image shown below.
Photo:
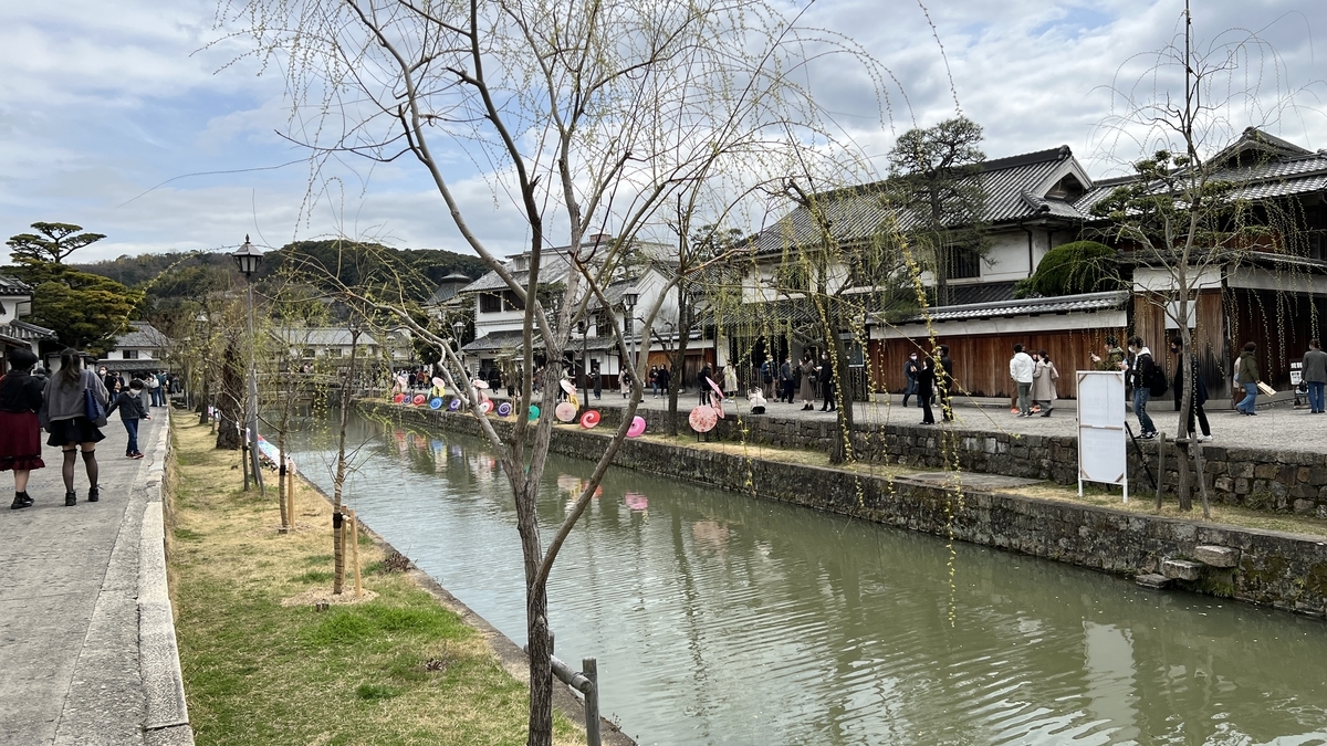
[[[65,462],[61,473],[65,478],[66,506],[78,504],[78,494],[74,491],[74,462],[80,450],[88,471],[88,502],[94,503],[101,499],[97,485],[97,442],[106,438],[98,430],[98,426],[106,423],[106,418],[105,415],[97,421],[88,418],[89,408],[85,405],[84,392],[92,392],[92,398],[101,411],[106,411],[110,402],[105,384],[92,370],[84,370],[82,353],[66,349],[60,353],[60,372],[46,380],[40,414],[46,431],[50,433],[46,445],[64,451]]]

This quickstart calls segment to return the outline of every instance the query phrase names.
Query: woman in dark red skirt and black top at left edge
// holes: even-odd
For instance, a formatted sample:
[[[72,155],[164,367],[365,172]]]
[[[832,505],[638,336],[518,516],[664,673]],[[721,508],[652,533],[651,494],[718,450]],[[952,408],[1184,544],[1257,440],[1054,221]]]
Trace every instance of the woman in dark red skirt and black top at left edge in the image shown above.
[[[42,469],[41,389],[45,382],[32,374],[37,356],[32,350],[9,350],[9,373],[0,378],[0,471],[13,471],[13,504],[11,510],[32,507],[28,496],[28,475]]]

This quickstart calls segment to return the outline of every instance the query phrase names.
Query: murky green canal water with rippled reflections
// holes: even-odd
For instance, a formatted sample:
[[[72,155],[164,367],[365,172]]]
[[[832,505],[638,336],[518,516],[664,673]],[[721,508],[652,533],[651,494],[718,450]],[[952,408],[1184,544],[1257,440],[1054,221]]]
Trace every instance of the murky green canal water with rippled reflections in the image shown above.
[[[301,471],[330,491],[334,439]],[[506,478],[479,441],[357,419],[348,500],[524,642]],[[587,462],[549,457],[544,526]],[[549,528],[545,534],[551,535]],[[610,470],[549,581],[644,745],[1327,743],[1327,625]],[[950,624],[950,608],[954,619]]]

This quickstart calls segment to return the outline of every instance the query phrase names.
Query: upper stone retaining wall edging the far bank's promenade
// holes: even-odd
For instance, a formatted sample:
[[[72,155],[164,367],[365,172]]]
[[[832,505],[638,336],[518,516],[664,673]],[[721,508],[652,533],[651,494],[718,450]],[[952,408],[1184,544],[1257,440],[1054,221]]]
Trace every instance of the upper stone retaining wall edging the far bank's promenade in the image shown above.
[[[617,425],[621,410],[602,408],[604,425]],[[667,414],[641,411],[649,431],[662,433]],[[602,426],[602,425],[601,425]],[[685,418],[682,427],[690,433]],[[775,447],[827,451],[831,438],[841,437],[833,421],[747,417],[740,422],[733,414],[719,421],[707,435],[710,439],[762,443]],[[945,441],[947,438],[947,441]],[[859,425],[852,435],[859,458],[874,463],[917,469],[953,469],[1003,474],[1028,479],[1047,479],[1059,485],[1078,483],[1078,438],[1022,435],[985,430],[943,430],[917,425]],[[1139,441],[1152,474],[1156,474],[1156,441]],[[1213,503],[1242,506],[1269,512],[1295,512],[1327,519],[1327,454],[1259,451],[1204,445],[1204,481]],[[1165,445],[1166,492],[1173,494],[1180,481],[1176,465],[1184,455],[1174,443]],[[1143,462],[1132,445],[1129,454],[1129,491],[1154,492]],[[1194,503],[1198,500],[1194,483]]]

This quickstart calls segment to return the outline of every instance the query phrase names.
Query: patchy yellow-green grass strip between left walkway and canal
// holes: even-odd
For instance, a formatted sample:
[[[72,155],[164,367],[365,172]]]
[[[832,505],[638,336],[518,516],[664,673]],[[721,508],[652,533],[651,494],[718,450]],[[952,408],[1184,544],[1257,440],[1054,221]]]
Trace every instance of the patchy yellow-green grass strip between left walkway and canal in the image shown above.
[[[167,552],[199,745],[525,742],[524,682],[480,633],[387,572],[370,539],[360,558],[372,600],[325,612],[289,603],[332,587],[332,508],[320,494],[299,485],[300,528],[281,535],[275,479],[267,499],[245,494],[239,454],[215,450],[188,415],[173,437]],[[555,735],[584,743],[560,713]]]

